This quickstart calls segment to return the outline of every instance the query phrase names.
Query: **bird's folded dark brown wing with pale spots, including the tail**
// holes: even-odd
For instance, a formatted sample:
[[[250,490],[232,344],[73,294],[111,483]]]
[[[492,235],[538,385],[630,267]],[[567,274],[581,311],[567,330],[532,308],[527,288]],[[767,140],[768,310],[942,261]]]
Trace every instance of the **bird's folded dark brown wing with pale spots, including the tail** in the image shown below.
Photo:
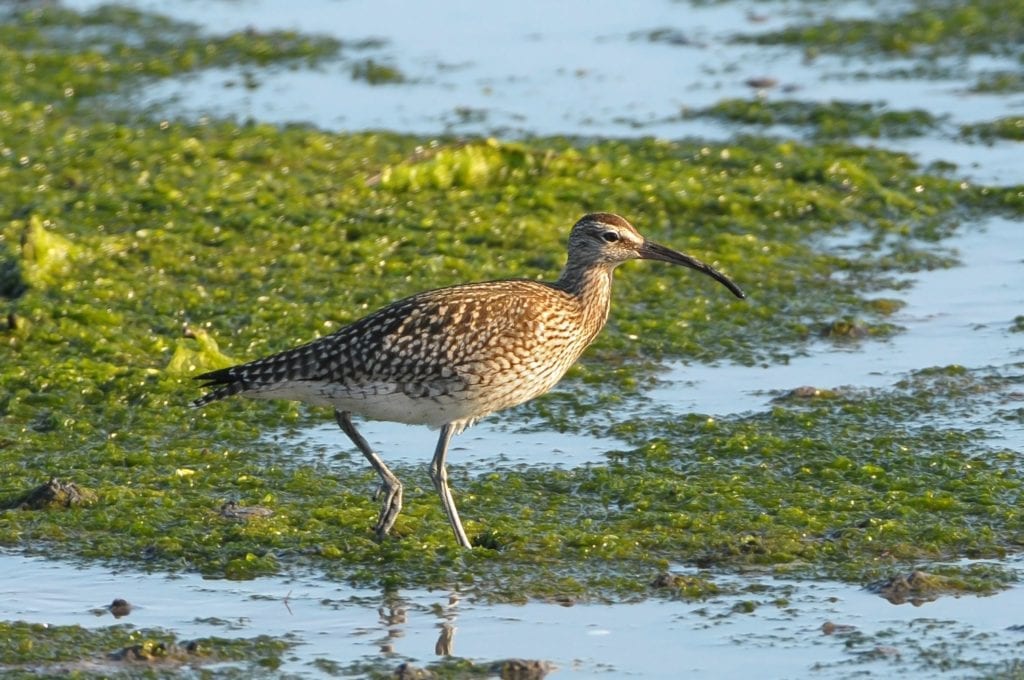
[[[282,383],[395,385],[411,396],[463,390],[478,382],[495,343],[529,351],[542,339],[535,282],[468,284],[404,298],[299,347],[198,376],[214,391],[202,406]]]

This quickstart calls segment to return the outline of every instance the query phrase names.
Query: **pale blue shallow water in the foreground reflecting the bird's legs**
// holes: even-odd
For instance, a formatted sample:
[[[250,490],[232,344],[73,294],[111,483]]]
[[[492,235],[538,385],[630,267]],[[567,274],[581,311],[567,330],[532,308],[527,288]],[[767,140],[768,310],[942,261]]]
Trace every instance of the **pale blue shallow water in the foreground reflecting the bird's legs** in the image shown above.
[[[945,597],[893,605],[861,588],[833,582],[710,575],[732,595],[703,601],[563,606],[479,604],[458,593],[352,589],[314,575],[246,582],[112,571],[0,553],[0,618],[97,628],[115,623],[114,598],[132,603],[118,623],[164,628],[182,638],[289,636],[297,645],[282,672],[327,675],[312,663],[342,667],[381,655],[397,666],[449,653],[481,662],[547,660],[558,677],[749,678],[850,677],[865,672],[933,677],[931,650],[964,649],[992,661],[1020,645],[1024,588],[991,597]],[[706,578],[709,575],[702,575]],[[753,603],[753,611],[745,609]],[[828,635],[822,625],[840,632]],[[993,656],[994,654],[994,656]]]

